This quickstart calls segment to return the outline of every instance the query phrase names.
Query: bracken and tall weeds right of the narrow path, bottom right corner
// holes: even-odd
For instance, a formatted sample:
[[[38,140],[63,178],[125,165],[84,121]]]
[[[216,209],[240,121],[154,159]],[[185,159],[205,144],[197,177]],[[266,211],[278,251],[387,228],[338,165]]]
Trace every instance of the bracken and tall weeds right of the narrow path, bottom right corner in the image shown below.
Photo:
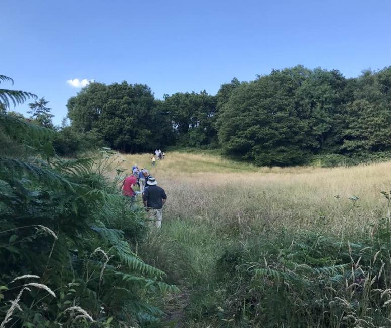
[[[390,235],[384,222],[371,232],[349,241],[282,229],[233,245],[216,263],[214,319],[222,326],[389,326]]]

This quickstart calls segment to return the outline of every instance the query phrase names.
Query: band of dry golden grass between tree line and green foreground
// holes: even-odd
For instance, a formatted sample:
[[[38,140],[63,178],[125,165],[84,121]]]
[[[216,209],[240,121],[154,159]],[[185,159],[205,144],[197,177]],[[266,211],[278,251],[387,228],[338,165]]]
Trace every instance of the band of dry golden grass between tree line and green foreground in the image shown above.
[[[171,152],[151,168],[152,154],[126,155],[150,169],[169,200],[164,220],[214,222],[242,232],[264,225],[324,227],[357,233],[386,213],[391,162],[345,168],[256,168],[206,154]],[[337,196],[338,195],[338,196]],[[352,208],[350,196],[360,199]]]

